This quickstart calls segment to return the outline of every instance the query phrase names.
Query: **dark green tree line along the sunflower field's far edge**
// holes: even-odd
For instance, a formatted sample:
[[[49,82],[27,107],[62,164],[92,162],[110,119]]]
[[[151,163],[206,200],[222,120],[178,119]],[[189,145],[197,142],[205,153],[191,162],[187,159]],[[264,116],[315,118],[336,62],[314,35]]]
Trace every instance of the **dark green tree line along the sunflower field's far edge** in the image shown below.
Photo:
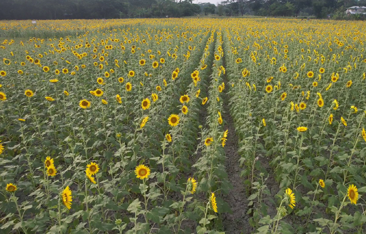
[[[195,0],[197,2],[197,0]],[[62,20],[219,16],[284,16],[326,18],[366,0],[0,0],[0,20]]]

